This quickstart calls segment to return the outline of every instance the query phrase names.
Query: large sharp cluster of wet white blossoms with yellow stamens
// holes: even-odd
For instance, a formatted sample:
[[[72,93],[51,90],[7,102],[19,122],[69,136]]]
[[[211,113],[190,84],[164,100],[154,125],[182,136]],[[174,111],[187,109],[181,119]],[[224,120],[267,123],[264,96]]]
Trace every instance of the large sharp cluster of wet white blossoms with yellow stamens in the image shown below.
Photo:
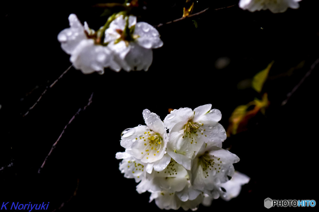
[[[222,148],[226,132],[211,104],[173,110],[164,121],[147,109],[143,117],[146,125],[122,132],[125,152],[116,158],[122,159],[124,177],[139,182],[137,192],[150,192],[160,209],[196,210],[219,197],[228,201],[248,183],[234,170],[238,156]]]

